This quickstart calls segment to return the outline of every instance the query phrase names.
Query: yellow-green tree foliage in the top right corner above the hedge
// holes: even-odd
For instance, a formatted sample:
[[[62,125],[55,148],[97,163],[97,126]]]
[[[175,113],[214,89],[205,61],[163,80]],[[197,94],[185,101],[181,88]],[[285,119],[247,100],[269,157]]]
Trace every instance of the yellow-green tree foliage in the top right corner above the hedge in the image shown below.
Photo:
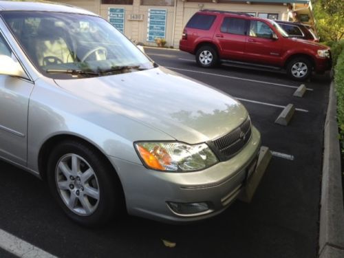
[[[344,1],[314,0],[313,7],[321,41],[344,39]]]

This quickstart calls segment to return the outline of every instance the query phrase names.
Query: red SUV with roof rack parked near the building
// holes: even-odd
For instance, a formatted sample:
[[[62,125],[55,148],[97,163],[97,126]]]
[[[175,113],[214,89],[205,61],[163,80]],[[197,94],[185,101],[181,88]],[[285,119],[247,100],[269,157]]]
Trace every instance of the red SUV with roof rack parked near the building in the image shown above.
[[[202,67],[226,61],[286,69],[294,80],[331,68],[329,47],[291,38],[275,21],[242,12],[195,13],[186,24],[180,50],[195,54]]]

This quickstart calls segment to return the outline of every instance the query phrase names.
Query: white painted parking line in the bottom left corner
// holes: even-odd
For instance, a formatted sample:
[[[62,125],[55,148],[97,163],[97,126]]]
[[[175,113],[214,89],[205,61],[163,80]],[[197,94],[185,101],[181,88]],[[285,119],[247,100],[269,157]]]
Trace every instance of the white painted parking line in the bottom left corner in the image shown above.
[[[32,244],[0,229],[0,248],[23,258],[57,258]]]

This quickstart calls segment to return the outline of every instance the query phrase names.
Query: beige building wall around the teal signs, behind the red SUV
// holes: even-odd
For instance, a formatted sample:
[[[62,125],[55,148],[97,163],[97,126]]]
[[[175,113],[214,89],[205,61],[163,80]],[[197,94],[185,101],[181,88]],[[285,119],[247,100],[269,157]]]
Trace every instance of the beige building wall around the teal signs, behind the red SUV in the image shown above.
[[[178,48],[182,38],[184,26],[189,19],[201,9],[227,10],[235,12],[277,13],[279,19],[287,19],[287,7],[282,4],[261,3],[191,3],[188,1],[175,0],[175,6],[141,6],[140,0],[133,0],[133,5],[107,5],[101,4],[101,0],[59,0],[72,6],[85,8],[101,17],[107,19],[108,8],[125,8],[125,35],[132,41],[155,45],[147,42],[147,14],[149,8],[166,9],[166,46]],[[129,14],[143,14],[143,21],[130,21]]]

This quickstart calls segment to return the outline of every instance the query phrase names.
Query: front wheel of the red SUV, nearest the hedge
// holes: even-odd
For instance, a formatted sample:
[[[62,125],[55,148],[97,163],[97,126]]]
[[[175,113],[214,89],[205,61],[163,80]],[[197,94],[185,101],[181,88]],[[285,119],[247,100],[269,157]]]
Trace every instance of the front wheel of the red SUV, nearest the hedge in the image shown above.
[[[307,80],[312,74],[312,63],[308,58],[296,57],[292,58],[287,65],[288,76],[292,80]]]

